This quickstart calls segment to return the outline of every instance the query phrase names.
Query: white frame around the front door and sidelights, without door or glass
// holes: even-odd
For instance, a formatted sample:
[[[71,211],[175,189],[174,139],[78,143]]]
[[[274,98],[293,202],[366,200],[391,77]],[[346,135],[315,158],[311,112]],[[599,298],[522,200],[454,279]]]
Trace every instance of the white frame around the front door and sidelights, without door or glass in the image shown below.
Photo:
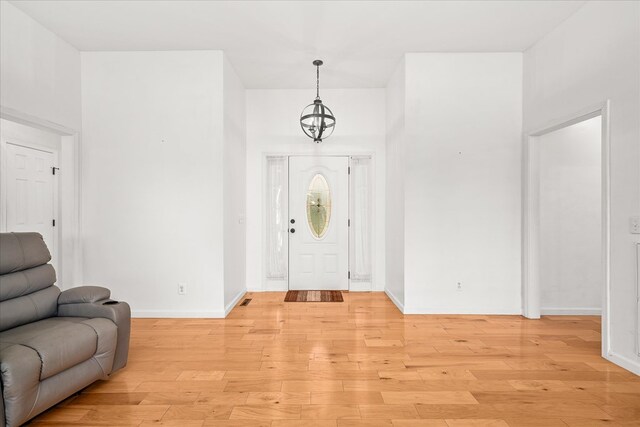
[[[362,151],[362,152],[350,152],[350,151],[332,151],[329,153],[292,153],[292,152],[263,152],[262,153],[262,171],[261,171],[261,176],[264,182],[264,178],[265,178],[265,174],[266,174],[266,165],[267,165],[267,159],[269,157],[284,157],[287,159],[287,161],[285,162],[287,165],[287,180],[286,180],[286,185],[287,185],[287,189],[286,189],[286,193],[287,193],[287,215],[289,212],[289,157],[292,156],[296,156],[296,157],[348,157],[349,158],[349,167],[351,167],[351,159],[353,157],[368,157],[371,159],[371,260],[372,260],[372,264],[375,265],[375,260],[376,260],[376,239],[377,239],[377,229],[376,229],[376,224],[377,224],[377,217],[376,217],[376,154],[374,151]],[[266,224],[265,224],[265,212],[266,212],[266,194],[267,192],[265,191],[266,188],[263,187],[261,192],[262,192],[262,218],[260,220],[260,223],[262,224],[261,226],[261,236],[262,236],[262,247],[260,248],[260,253],[261,253],[261,264],[262,264],[262,269],[265,268],[265,260],[266,260]],[[352,191],[351,191],[351,175],[349,175],[349,189],[348,189],[348,194],[349,194],[349,218],[353,217],[353,201],[352,201]],[[288,225],[288,218],[287,218],[287,225]],[[288,229],[288,227],[287,227]],[[289,234],[287,232],[287,234]],[[353,246],[353,235],[352,235],[352,229],[350,227],[349,230],[349,239],[348,239],[348,256],[349,256],[349,271],[352,271],[352,259],[351,259],[351,247]],[[262,276],[262,289],[261,291],[286,291],[289,289],[289,259],[288,259],[288,254],[289,254],[289,237],[287,236],[286,239],[286,244],[287,244],[287,278],[286,280],[275,280],[275,279],[269,279],[266,277],[266,275],[264,274],[264,270],[261,274]],[[371,268],[371,282],[369,286],[363,287],[363,286],[358,286],[358,282],[353,282],[352,279],[349,279],[349,291],[351,292],[355,292],[355,291],[361,291],[361,292],[371,292],[371,291],[375,291],[376,290],[376,280],[377,280],[377,275],[376,275],[376,271],[375,268]],[[277,283],[281,283],[285,286],[282,285],[278,285]]]

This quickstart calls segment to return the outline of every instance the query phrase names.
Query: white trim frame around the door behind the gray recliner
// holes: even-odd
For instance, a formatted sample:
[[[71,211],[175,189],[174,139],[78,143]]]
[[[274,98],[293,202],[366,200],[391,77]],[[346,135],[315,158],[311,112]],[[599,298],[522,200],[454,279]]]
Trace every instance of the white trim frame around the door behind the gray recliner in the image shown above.
[[[23,140],[19,140],[17,138],[2,138],[2,140],[0,141],[0,151],[2,151],[2,154],[0,155],[0,157],[2,158],[2,165],[0,166],[0,192],[2,192],[2,194],[0,194],[0,231],[2,232],[6,232],[7,231],[7,220],[8,220],[8,214],[7,214],[7,209],[8,209],[8,203],[7,203],[7,173],[8,173],[8,159],[7,159],[7,152],[8,152],[8,146],[9,145],[14,145],[16,147],[22,147],[22,148],[27,148],[30,150],[36,150],[36,151],[42,151],[43,153],[49,153],[53,156],[53,165],[51,165],[52,167],[58,168],[59,167],[59,163],[58,163],[58,158],[59,158],[59,152],[57,149],[55,148],[51,148],[51,147],[47,147],[44,145],[40,145],[40,144],[36,144],[33,142],[27,142],[27,141],[23,141]],[[60,204],[59,204],[59,197],[60,197],[60,190],[59,190],[59,180],[58,180],[58,174],[53,175],[53,218],[56,221],[56,224],[59,224],[59,216],[60,216]],[[60,266],[60,258],[59,258],[59,240],[60,237],[58,236],[58,230],[57,228],[59,227],[59,225],[54,226],[54,230],[52,236],[53,236],[53,250],[51,251],[51,264],[53,265],[53,268],[58,271],[58,267]]]

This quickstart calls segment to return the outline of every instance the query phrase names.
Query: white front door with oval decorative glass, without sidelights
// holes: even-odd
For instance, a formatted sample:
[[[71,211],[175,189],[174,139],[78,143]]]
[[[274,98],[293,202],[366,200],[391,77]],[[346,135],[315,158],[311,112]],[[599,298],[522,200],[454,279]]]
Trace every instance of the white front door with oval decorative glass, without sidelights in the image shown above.
[[[349,158],[289,157],[289,289],[349,289]]]

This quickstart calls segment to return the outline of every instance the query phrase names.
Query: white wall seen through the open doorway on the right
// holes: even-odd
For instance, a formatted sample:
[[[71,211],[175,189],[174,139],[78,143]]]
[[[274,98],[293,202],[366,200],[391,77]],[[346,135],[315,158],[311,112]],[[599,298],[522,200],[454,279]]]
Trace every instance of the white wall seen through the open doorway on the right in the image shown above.
[[[602,306],[601,117],[537,139],[542,314]]]

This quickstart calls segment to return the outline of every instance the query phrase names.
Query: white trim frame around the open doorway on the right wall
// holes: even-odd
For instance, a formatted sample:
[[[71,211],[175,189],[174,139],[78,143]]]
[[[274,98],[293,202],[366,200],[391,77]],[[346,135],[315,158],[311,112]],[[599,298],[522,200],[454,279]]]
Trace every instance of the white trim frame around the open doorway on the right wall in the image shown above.
[[[539,138],[551,132],[600,116],[601,127],[601,204],[602,204],[602,356],[610,355],[610,102],[609,100],[577,111],[569,117],[555,120],[548,125],[525,134],[523,149],[523,197],[522,197],[522,309],[529,319],[540,318],[539,259]]]

